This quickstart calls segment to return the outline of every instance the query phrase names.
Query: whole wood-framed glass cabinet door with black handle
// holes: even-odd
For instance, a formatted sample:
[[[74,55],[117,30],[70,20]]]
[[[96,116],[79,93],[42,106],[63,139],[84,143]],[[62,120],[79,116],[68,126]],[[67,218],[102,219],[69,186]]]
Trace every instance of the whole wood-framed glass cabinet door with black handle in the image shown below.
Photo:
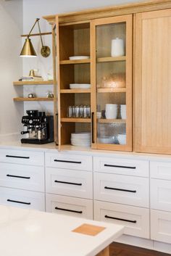
[[[91,23],[93,149],[132,151],[132,15]]]

